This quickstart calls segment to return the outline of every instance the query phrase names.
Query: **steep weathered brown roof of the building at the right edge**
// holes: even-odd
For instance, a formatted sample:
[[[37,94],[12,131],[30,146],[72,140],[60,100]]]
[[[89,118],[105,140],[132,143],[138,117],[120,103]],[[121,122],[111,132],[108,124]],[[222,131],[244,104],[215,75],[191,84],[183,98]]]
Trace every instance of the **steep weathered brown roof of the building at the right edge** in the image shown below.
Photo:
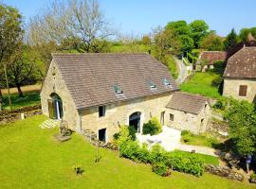
[[[256,47],[244,47],[230,57],[224,77],[256,78]]]

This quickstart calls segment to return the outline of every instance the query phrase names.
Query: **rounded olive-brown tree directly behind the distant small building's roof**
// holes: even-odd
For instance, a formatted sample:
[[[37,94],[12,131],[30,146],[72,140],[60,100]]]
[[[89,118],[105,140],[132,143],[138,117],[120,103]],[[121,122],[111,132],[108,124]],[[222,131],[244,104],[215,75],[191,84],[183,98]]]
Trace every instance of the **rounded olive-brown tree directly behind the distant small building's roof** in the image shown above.
[[[210,33],[202,40],[200,47],[209,51],[223,51],[223,39],[215,33]]]

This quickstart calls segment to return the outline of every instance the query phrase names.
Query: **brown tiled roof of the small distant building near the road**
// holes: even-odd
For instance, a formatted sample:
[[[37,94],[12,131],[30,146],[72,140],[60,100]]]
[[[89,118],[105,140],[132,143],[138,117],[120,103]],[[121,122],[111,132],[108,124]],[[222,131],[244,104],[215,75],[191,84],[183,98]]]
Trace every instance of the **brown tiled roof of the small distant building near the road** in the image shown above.
[[[200,54],[198,63],[206,61],[208,65],[213,65],[216,61],[225,61],[227,59],[227,52],[225,51],[203,51]]]

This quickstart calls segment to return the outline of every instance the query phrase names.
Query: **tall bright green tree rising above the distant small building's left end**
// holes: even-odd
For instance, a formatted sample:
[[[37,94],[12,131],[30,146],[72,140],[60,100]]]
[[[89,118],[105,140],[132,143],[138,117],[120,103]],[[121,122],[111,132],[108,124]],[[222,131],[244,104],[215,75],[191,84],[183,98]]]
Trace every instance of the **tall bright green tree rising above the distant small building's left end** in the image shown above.
[[[195,48],[199,48],[201,41],[208,34],[209,26],[203,20],[195,20],[190,24],[190,27],[194,46]]]

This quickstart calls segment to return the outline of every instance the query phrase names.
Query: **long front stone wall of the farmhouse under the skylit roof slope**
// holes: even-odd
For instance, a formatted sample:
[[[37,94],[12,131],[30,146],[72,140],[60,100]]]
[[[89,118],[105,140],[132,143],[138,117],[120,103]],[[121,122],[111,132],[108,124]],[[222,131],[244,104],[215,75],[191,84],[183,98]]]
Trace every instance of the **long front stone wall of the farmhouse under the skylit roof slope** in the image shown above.
[[[91,108],[82,112],[82,129],[90,129],[98,134],[99,129],[106,129],[107,142],[111,142],[113,135],[119,132],[120,125],[129,125],[129,116],[134,112],[140,112],[140,131],[143,123],[148,122],[152,117],[160,120],[161,112],[167,112],[165,106],[171,99],[172,94],[157,94],[106,105],[104,117],[99,117],[99,108]],[[164,114],[168,119],[168,114]],[[165,123],[164,123],[165,124]]]

